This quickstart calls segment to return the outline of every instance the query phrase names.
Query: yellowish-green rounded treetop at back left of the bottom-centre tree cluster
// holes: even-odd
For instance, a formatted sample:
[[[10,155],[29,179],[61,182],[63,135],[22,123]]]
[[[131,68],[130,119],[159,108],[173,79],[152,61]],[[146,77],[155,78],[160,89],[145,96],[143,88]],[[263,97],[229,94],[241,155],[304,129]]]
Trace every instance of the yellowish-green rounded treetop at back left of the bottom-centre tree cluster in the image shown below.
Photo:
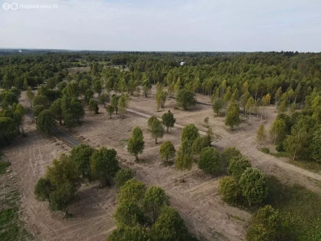
[[[117,203],[134,202],[141,203],[146,192],[145,184],[135,178],[128,180],[120,187],[117,194]]]

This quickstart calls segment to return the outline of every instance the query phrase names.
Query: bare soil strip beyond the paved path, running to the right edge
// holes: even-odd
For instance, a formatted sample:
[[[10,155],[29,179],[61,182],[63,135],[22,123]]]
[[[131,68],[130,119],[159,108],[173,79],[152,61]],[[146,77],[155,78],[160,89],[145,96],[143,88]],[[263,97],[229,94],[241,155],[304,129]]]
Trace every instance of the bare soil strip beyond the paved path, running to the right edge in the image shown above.
[[[153,90],[152,90],[153,91]],[[310,172],[298,166],[288,163],[287,158],[277,158],[259,150],[259,143],[256,140],[256,131],[261,124],[260,117],[251,115],[251,124],[248,124],[247,117],[242,117],[242,122],[239,127],[236,127],[233,132],[224,124],[224,117],[216,116],[213,113],[211,106],[196,104],[187,111],[175,110],[176,101],[167,99],[164,109],[157,110],[154,94],[150,97],[140,96],[138,99],[133,97],[130,101],[129,108],[138,112],[143,112],[149,115],[161,117],[168,110],[173,112],[178,124],[186,125],[194,123],[199,130],[206,131],[204,126],[204,118],[210,117],[209,127],[212,128],[214,138],[212,144],[219,150],[223,150],[228,146],[238,147],[244,156],[250,158],[252,165],[261,169],[265,174],[276,176],[284,183],[300,183],[315,192],[321,192],[320,187],[311,182],[310,178],[321,181],[320,173]],[[267,108],[267,118],[265,120],[265,111],[263,113],[263,123],[268,131],[277,113],[274,112],[274,106]]]

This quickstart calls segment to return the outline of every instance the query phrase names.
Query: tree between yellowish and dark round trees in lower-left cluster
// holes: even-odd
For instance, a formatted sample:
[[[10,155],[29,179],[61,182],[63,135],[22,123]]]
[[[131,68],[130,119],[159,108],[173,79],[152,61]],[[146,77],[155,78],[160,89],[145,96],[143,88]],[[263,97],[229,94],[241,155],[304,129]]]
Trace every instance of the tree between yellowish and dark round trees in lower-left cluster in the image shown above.
[[[78,171],[84,178],[91,181],[91,156],[95,149],[87,144],[80,143],[71,149],[71,158],[77,164]]]

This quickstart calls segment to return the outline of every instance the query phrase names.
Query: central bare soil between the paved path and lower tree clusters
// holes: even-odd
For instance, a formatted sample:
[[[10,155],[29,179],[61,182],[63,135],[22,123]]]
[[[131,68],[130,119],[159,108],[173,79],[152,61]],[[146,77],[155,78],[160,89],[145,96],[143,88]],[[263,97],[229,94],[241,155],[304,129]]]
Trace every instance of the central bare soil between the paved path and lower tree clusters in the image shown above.
[[[135,162],[134,156],[127,153],[126,139],[131,130],[139,125],[144,134],[145,149]],[[146,185],[159,185],[171,198],[171,204],[179,210],[191,232],[202,240],[243,240],[247,220],[250,215],[237,208],[230,207],[217,197],[218,180],[204,174],[196,166],[186,175],[186,183],[180,183],[181,172],[174,165],[164,167],[158,151],[161,143],[170,140],[178,149],[181,129],[170,129],[159,144],[155,145],[147,130],[147,118],[127,113],[125,118],[113,115],[100,106],[99,115],[86,115],[82,125],[72,130],[72,135],[95,147],[115,148],[123,166],[135,171],[135,176]],[[232,217],[239,217],[240,220]]]

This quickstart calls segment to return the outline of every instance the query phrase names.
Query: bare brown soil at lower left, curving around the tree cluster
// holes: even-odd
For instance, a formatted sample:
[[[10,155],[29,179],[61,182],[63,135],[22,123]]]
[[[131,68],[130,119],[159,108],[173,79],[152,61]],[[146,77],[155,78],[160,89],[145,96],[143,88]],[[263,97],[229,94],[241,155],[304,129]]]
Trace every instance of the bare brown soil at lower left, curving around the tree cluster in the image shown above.
[[[2,150],[12,163],[19,190],[22,193],[23,220],[37,240],[105,240],[115,227],[111,218],[115,209],[116,192],[84,185],[79,190],[79,201],[70,206],[72,218],[63,219],[61,213],[52,214],[46,203],[34,199],[33,188],[45,174],[46,166],[61,152],[69,152],[57,138],[43,138],[30,119],[25,121],[26,137],[18,137],[15,145]]]

